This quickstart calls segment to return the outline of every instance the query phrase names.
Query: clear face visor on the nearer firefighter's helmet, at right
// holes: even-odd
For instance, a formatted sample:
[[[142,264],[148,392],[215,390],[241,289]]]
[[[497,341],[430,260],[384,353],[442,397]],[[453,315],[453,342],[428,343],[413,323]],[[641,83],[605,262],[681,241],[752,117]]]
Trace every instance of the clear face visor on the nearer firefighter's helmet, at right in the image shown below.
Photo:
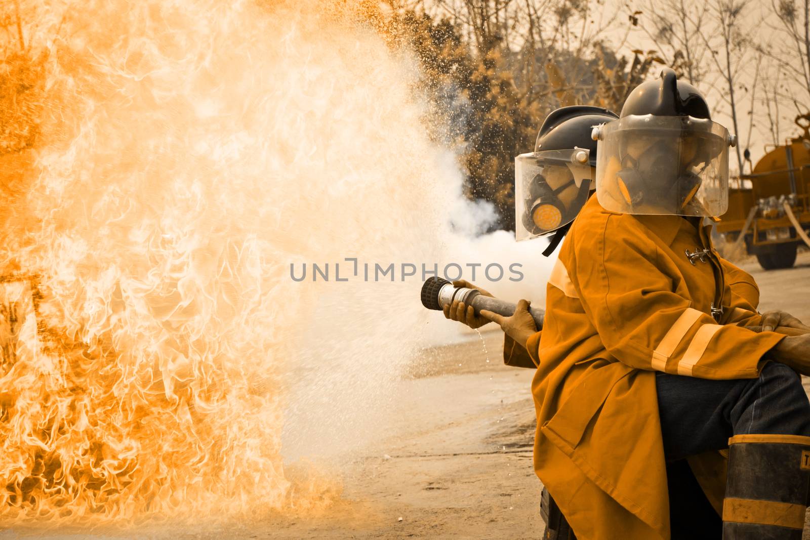
[[[693,117],[629,116],[599,128],[596,196],[622,214],[723,215],[728,131]]]

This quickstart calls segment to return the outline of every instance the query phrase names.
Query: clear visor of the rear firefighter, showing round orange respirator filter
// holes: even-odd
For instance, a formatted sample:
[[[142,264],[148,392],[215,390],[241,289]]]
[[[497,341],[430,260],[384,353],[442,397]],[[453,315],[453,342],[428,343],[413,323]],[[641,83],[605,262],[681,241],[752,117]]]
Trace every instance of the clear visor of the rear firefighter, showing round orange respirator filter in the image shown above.
[[[514,159],[514,235],[528,240],[571,223],[588,199],[591,168],[582,148]]]

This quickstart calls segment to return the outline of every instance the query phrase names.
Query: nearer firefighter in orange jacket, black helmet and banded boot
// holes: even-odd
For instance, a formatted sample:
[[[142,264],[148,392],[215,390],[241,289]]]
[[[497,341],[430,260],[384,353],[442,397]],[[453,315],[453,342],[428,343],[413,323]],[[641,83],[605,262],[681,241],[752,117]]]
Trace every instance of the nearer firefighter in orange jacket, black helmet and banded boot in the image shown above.
[[[770,330],[810,327],[757,313],[752,277],[711,246],[702,222],[725,211],[731,137],[672,70],[595,136],[597,196],[561,247],[542,332],[526,301],[512,317],[445,315],[496,321],[538,365],[535,472],[580,540],[671,538],[666,462],[689,458],[706,481],[722,453],[725,489],[701,485],[723,538],[801,538],[810,334]]]

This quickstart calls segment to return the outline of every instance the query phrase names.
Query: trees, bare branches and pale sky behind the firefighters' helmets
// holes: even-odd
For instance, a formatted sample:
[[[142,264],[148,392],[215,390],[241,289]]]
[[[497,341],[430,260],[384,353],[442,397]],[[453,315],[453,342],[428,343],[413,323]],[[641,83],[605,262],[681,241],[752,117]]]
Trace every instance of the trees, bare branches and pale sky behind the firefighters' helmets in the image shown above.
[[[388,0],[384,35],[416,51],[424,90],[451,126],[469,198],[514,227],[514,156],[553,109],[620,111],[671,66],[738,134],[731,169],[795,134],[810,110],[808,2],[774,0]],[[756,148],[755,148],[756,147]]]

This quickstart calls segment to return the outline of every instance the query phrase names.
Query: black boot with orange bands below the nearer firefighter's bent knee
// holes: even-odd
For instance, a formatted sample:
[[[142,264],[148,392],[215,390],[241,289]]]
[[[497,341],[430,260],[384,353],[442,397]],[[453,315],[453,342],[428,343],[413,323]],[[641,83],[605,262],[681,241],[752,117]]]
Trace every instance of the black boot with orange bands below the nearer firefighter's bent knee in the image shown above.
[[[810,494],[810,437],[728,441],[723,540],[801,540]]]

